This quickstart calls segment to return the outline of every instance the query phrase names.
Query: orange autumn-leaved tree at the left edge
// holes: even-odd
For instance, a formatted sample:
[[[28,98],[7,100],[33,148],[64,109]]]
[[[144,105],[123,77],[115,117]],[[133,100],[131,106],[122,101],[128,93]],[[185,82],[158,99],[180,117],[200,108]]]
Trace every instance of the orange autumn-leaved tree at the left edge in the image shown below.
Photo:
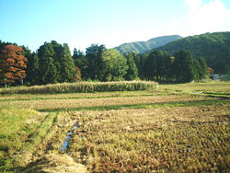
[[[0,83],[23,81],[26,77],[26,62],[21,47],[6,45],[0,52]]]

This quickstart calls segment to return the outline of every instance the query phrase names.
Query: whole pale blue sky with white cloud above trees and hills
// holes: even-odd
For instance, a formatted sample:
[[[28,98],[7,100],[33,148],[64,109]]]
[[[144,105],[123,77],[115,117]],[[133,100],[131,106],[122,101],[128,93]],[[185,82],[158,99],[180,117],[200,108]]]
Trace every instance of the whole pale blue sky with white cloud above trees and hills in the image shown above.
[[[229,0],[0,0],[0,39],[85,51],[164,35],[230,31]]]

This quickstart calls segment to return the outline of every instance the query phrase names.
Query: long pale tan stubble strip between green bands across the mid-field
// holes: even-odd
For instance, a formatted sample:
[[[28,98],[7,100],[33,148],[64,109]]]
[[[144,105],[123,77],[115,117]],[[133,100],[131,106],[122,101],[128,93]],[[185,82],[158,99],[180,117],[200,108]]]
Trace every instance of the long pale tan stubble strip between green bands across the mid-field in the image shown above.
[[[60,99],[60,100],[25,100],[25,101],[5,101],[0,106],[12,104],[19,105],[35,110],[52,109],[72,109],[84,107],[99,107],[110,105],[133,105],[133,104],[154,104],[154,103],[172,103],[178,101],[192,102],[201,100],[211,100],[203,96],[172,95],[172,96],[139,96],[139,97],[109,97],[95,99]]]

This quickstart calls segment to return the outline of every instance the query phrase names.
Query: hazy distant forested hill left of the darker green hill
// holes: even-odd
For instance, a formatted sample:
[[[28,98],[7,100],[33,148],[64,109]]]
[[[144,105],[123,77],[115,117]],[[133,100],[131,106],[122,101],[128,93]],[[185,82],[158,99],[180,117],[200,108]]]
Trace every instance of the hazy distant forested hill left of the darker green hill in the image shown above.
[[[148,41],[124,43],[118,47],[115,47],[114,49],[117,49],[118,51],[120,51],[121,54],[131,53],[131,52],[144,53],[153,48],[163,46],[167,43],[178,40],[180,38],[182,37],[179,35],[163,36],[163,37],[152,38]]]

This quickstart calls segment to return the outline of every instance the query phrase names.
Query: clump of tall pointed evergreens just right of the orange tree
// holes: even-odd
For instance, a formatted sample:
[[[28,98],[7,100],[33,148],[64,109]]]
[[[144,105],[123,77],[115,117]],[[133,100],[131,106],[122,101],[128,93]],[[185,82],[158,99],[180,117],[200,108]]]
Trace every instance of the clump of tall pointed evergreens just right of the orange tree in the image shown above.
[[[61,45],[56,41],[44,43],[38,50],[38,57],[42,84],[52,81],[54,83],[75,81],[76,67],[67,44]],[[53,77],[51,70],[54,70]],[[50,76],[51,80],[48,80],[47,76]]]

